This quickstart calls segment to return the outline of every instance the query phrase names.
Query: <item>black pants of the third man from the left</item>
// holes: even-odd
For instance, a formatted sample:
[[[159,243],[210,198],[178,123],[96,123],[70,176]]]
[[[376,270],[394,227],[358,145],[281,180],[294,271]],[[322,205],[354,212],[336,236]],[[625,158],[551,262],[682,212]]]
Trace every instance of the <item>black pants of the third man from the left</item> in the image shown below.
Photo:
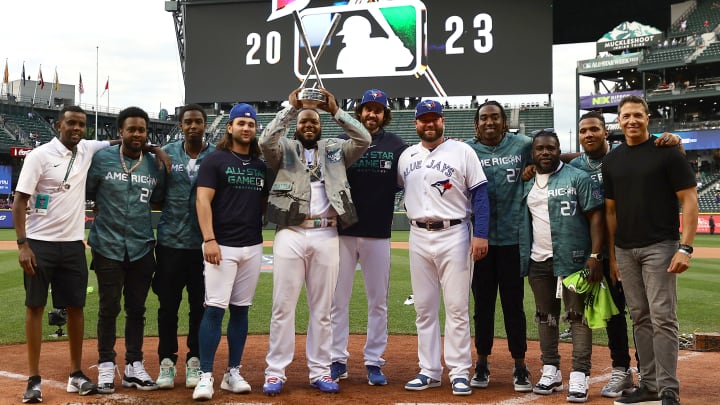
[[[187,335],[188,353],[200,357],[198,330],[205,310],[205,278],[203,277],[203,254],[201,249],[175,249],[158,245],[155,248],[157,271],[152,289],[157,295],[158,308],[158,359],[169,358],[177,362],[178,310],[183,289],[187,288],[190,307]]]

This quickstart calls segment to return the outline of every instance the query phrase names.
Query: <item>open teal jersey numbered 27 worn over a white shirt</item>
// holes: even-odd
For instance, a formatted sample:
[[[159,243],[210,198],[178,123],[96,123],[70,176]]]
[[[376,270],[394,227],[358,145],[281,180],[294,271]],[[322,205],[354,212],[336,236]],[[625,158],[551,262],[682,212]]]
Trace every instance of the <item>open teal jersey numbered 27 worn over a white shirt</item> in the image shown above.
[[[528,274],[532,247],[532,218],[527,196],[533,181],[525,183],[523,218],[520,233],[521,274]],[[556,276],[568,276],[585,266],[592,250],[590,225],[585,213],[604,203],[602,190],[580,169],[560,163],[548,179],[548,213],[553,245],[553,270]]]

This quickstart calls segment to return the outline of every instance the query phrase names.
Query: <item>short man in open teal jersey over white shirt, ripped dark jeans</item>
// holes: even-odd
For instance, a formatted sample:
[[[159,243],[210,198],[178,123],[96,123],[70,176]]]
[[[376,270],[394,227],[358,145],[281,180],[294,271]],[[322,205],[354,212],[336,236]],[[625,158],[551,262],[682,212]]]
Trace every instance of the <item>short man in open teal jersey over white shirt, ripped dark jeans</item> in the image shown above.
[[[602,252],[602,197],[590,176],[560,161],[560,141],[552,129],[533,133],[534,182],[524,185],[520,229],[521,274],[528,276],[535,296],[542,376],[533,391],[549,395],[562,391],[558,352],[560,297],[564,319],[570,322],[573,358],[569,402],[586,402],[592,356],[592,331],[583,322],[585,294],[562,285],[561,278],[581,268],[590,280],[602,277],[601,263],[591,257]]]

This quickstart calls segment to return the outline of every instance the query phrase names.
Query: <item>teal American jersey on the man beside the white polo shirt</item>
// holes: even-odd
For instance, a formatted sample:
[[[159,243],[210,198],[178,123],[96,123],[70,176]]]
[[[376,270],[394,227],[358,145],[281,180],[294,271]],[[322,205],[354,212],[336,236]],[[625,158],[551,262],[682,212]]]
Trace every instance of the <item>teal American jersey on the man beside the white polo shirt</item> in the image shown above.
[[[126,173],[119,148],[115,145],[96,153],[88,171],[86,192],[97,209],[88,244],[109,259],[124,261],[127,252],[129,260],[135,261],[155,246],[150,203],[162,201],[165,177],[149,153],[143,153],[140,165]],[[138,161],[124,159],[128,169]]]

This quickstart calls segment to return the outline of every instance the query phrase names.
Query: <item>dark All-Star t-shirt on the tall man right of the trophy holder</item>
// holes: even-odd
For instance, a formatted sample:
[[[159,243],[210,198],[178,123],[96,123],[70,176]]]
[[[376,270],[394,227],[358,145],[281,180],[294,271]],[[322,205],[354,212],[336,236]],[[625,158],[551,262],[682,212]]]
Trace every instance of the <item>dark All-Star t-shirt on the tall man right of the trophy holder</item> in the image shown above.
[[[348,139],[343,134],[341,139]],[[372,135],[368,150],[347,169],[350,195],[358,213],[358,222],[340,235],[389,238],[392,228],[397,185],[397,164],[408,145],[399,136],[380,129]]]

